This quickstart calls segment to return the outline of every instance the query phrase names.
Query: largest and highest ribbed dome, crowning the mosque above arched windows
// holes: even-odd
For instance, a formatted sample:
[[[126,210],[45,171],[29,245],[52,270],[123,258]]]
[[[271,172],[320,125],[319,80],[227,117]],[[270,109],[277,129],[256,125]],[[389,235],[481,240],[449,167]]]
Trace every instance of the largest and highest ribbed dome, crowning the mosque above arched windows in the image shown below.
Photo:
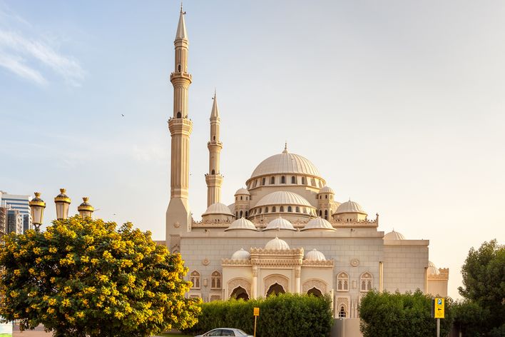
[[[252,171],[251,178],[275,173],[299,173],[320,176],[317,168],[308,159],[297,154],[290,154],[287,149],[282,154],[268,157]]]

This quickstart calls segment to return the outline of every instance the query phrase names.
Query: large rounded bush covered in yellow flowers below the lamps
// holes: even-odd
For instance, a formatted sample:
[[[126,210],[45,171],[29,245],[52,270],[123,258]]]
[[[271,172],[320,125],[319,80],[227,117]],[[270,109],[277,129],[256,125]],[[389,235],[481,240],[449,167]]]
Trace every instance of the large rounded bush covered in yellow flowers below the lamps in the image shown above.
[[[125,223],[53,221],[45,232],[4,237],[0,315],[53,336],[151,336],[196,322],[198,301],[179,254]]]

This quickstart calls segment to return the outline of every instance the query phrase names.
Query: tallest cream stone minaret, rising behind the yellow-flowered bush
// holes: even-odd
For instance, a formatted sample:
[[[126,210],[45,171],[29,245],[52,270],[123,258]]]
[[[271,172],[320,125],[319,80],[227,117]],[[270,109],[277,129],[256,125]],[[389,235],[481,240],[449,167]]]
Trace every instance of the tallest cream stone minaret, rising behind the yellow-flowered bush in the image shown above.
[[[166,240],[171,251],[178,251],[177,244],[183,231],[191,229],[191,212],[188,203],[189,186],[189,138],[193,122],[188,119],[188,33],[184,22],[183,6],[180,6],[179,24],[175,34],[175,69],[170,74],[173,85],[173,117],[168,121],[172,137],[170,161],[170,203],[166,213]]]

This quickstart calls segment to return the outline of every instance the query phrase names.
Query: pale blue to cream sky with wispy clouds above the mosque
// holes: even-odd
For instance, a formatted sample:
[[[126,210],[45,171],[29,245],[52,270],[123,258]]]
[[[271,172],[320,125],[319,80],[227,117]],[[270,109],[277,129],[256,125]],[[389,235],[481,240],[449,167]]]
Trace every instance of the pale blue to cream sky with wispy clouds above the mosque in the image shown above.
[[[0,0],[0,190],[65,187],[165,237],[178,1]],[[505,239],[504,1],[185,1],[190,206],[206,206],[208,118],[222,201],[263,159],[310,159],[379,231],[429,239],[459,297],[471,246]],[[124,117],[121,116],[124,114]]]

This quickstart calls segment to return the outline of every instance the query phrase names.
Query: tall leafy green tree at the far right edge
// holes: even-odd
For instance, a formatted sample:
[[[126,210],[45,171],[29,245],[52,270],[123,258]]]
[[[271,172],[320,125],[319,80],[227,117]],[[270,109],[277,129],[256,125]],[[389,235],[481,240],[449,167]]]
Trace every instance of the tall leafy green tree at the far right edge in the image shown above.
[[[481,333],[484,336],[505,336],[505,246],[495,240],[482,243],[479,250],[470,249],[461,268],[463,286],[459,293],[466,298],[469,310],[479,306],[481,317],[486,317]],[[458,316],[460,323],[470,324],[467,310]]]

